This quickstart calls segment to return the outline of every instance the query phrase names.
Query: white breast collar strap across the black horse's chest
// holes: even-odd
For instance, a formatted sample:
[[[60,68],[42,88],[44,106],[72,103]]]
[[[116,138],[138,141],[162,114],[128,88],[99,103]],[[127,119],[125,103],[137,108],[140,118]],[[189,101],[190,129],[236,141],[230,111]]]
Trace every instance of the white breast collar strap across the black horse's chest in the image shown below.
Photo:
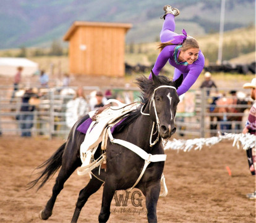
[[[145,164],[143,166],[142,172],[140,172],[139,178],[137,179],[135,184],[128,191],[134,189],[135,185],[137,185],[139,183],[139,181],[142,178],[148,164],[150,164],[151,162],[160,162],[160,161],[165,161],[166,160],[166,155],[165,154],[151,155],[150,153],[147,153],[144,150],[142,150],[142,148],[137,147],[137,145],[131,144],[130,142],[126,142],[122,139],[114,139],[114,137],[111,134],[110,128],[108,128],[108,136],[109,136],[110,142],[112,142],[114,144],[122,145],[126,148],[129,148],[129,150],[132,150],[132,152],[136,153],[143,160],[145,160]]]

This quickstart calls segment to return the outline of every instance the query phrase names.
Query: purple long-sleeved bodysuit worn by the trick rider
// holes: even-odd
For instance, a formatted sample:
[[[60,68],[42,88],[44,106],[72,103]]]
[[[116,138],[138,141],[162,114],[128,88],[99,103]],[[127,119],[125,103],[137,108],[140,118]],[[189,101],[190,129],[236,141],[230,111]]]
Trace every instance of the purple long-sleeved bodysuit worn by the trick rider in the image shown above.
[[[160,33],[161,43],[172,41],[174,45],[169,45],[163,48],[163,50],[158,55],[156,59],[155,66],[153,67],[153,72],[155,75],[158,75],[160,70],[164,67],[166,62],[169,60],[169,63],[174,67],[173,80],[175,81],[181,74],[183,74],[183,81],[179,89],[177,89],[177,94],[182,95],[187,92],[190,87],[195,83],[198,76],[203,70],[205,64],[205,57],[203,53],[199,51],[198,58],[192,64],[179,63],[177,58],[179,57],[179,44],[184,40],[184,35],[179,35],[174,33],[175,22],[174,15],[167,14],[163,23],[163,28]],[[179,43],[181,42],[181,43]],[[151,73],[149,79],[151,79]]]

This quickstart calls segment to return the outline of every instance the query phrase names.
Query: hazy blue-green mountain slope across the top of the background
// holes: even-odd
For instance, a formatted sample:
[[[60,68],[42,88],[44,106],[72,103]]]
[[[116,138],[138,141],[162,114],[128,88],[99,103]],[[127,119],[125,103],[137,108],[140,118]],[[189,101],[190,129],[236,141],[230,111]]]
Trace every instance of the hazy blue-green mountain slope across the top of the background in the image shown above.
[[[192,36],[214,33],[220,26],[220,3],[211,0],[4,0],[0,5],[0,49],[20,46],[49,46],[62,39],[75,20],[132,23],[127,43],[153,42],[163,20],[163,5],[181,10],[176,30]],[[226,0],[225,30],[255,23],[254,0]]]

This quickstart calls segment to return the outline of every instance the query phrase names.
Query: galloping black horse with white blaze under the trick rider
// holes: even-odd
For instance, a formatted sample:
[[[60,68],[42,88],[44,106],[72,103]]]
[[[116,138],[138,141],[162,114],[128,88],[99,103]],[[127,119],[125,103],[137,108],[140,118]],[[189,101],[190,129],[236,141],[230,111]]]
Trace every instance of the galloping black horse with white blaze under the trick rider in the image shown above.
[[[182,75],[176,81],[172,81],[166,76],[155,76],[154,74],[153,81],[145,76],[137,78],[137,84],[142,90],[142,105],[137,110],[132,111],[126,120],[117,126],[113,132],[113,137],[135,144],[152,155],[164,154],[161,138],[168,139],[176,131],[174,121],[177,104],[179,103],[176,89],[181,83]],[[28,184],[30,188],[40,184],[38,187],[40,189],[49,177],[53,176],[61,168],[53,187],[53,194],[45,208],[40,212],[40,218],[43,220],[51,216],[56,197],[63,189],[64,182],[82,164],[80,160],[80,145],[85,138],[85,134],[77,131],[77,128],[88,118],[89,116],[86,115],[75,123],[67,141],[48,160],[36,168],[44,169],[39,173],[40,176],[37,179]],[[153,127],[153,132],[155,133],[151,134],[153,123],[158,124]],[[160,139],[158,140],[159,136]],[[150,141],[155,141],[155,145],[150,146]],[[100,155],[101,149],[98,149],[95,153],[95,160]],[[145,161],[139,155],[122,145],[112,144],[108,139],[106,171],[101,169],[99,175],[99,169],[93,169],[92,172],[96,177],[92,176],[86,187],[80,191],[72,222],[77,222],[80,211],[86,201],[90,195],[100,189],[103,181],[105,181],[105,184],[98,221],[108,221],[111,200],[115,191],[132,187],[140,176],[144,163]],[[160,195],[160,180],[163,168],[164,161],[150,163],[143,177],[135,186],[146,197],[148,222],[157,221],[156,203]]]

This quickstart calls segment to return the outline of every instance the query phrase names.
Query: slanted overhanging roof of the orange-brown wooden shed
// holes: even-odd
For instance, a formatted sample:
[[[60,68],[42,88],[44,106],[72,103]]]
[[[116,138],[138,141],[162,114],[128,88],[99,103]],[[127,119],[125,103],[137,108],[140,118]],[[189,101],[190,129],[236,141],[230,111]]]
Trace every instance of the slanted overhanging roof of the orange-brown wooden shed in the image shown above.
[[[106,22],[83,22],[83,21],[75,21],[72,26],[70,26],[67,33],[64,35],[63,40],[69,41],[72,34],[77,30],[79,26],[95,26],[95,27],[115,27],[115,28],[124,28],[126,32],[132,28],[132,24],[130,23],[106,23]]]

